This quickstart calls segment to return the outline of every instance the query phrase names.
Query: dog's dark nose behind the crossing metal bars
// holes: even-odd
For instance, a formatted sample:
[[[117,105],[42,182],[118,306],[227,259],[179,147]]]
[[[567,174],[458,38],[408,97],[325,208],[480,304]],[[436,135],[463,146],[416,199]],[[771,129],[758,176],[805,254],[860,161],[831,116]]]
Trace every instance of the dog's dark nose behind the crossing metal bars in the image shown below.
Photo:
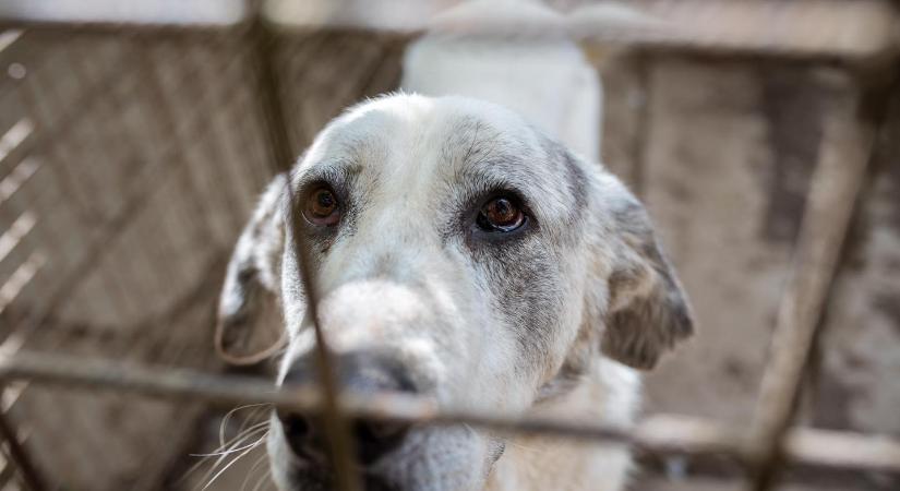
[[[336,357],[338,381],[355,395],[381,393],[416,393],[408,372],[396,358],[371,352],[350,352]],[[285,376],[285,384],[315,384],[317,382],[313,357],[293,363]],[[300,457],[322,459],[326,454],[326,438],[319,418],[297,412],[278,411],[285,438]],[[370,465],[399,446],[408,427],[388,421],[353,421],[352,436],[357,460]]]

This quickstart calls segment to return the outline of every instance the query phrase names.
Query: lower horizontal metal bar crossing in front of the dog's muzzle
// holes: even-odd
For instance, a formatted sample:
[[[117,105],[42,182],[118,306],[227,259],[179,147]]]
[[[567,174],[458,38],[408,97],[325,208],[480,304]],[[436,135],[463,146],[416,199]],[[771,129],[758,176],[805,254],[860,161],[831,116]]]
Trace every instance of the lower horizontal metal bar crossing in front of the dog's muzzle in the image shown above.
[[[64,387],[124,391],[217,406],[272,404],[305,412],[322,410],[314,387],[277,387],[247,376],[194,370],[149,368],[63,355],[0,354],[0,380],[29,380]],[[353,418],[429,424],[470,424],[513,433],[541,433],[583,442],[629,444],[655,454],[725,454],[743,460],[744,434],[699,418],[659,415],[632,430],[589,421],[557,420],[494,412],[441,410],[432,400],[400,395],[355,397],[341,394],[341,408]],[[788,460],[811,466],[900,472],[900,441],[888,436],[793,428],[784,445]]]

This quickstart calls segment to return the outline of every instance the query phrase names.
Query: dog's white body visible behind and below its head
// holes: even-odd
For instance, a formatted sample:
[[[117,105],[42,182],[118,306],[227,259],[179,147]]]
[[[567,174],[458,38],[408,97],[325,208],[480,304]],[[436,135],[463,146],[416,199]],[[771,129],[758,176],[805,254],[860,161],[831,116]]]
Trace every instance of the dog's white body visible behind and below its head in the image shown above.
[[[497,32],[491,26],[514,26]],[[431,33],[413,41],[404,60],[406,89],[458,94],[515,109],[569,147],[597,160],[600,153],[602,89],[596,70],[563,34],[541,31],[523,36],[529,22],[542,27],[562,15],[535,2],[476,1],[440,17]],[[470,29],[459,35],[460,28]],[[466,35],[468,34],[468,35]],[[639,379],[628,368],[603,361],[581,386],[533,412],[585,417],[591,421],[632,422]],[[614,382],[614,383],[610,383]],[[623,487],[627,451],[598,448],[559,440],[518,436],[507,445],[488,490],[599,490]]]

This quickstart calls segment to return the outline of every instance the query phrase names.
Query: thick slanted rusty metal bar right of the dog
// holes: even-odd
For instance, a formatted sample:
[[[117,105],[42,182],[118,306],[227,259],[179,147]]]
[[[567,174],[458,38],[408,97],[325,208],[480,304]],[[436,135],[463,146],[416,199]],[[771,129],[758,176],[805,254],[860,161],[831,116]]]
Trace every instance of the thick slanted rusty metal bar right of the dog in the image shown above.
[[[855,89],[841,84],[843,89]],[[794,267],[779,306],[771,359],[763,378],[746,457],[748,489],[771,489],[782,460],[782,440],[797,406],[804,368],[875,141],[875,122],[862,96],[836,97],[828,111],[813,175]]]

